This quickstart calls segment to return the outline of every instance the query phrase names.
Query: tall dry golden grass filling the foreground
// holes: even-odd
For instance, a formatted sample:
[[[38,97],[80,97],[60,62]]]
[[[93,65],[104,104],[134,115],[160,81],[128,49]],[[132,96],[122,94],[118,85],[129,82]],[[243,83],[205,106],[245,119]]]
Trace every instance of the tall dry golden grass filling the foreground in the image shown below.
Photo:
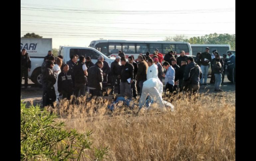
[[[134,109],[118,103],[110,112],[106,99],[63,100],[49,108],[67,129],[92,130],[93,146],[109,146],[106,160],[235,160],[235,94],[164,96],[175,111]],[[138,102],[134,101],[134,104]],[[87,160],[87,158],[82,158]]]

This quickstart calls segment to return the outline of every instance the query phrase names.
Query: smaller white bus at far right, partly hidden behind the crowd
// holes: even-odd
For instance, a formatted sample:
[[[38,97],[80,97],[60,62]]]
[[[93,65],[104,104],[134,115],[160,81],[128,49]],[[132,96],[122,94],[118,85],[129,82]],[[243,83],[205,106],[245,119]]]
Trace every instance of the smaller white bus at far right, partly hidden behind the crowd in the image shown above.
[[[226,54],[227,50],[230,50],[229,44],[191,44],[194,56],[196,56],[197,52],[204,52],[206,47],[210,48],[210,53],[212,53],[212,50],[217,50],[220,56]]]

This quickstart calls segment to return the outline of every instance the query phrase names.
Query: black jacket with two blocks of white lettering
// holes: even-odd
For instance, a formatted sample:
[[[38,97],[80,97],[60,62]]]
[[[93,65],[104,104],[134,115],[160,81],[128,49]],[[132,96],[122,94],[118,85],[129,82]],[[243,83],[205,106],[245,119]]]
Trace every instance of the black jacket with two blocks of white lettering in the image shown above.
[[[74,75],[71,71],[61,72],[58,76],[58,91],[72,93],[74,89]]]

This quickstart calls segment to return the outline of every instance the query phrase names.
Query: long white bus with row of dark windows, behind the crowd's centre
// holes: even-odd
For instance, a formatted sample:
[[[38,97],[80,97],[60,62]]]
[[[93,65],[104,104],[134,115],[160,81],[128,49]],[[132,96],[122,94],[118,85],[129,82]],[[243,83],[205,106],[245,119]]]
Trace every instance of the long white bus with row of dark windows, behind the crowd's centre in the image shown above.
[[[127,40],[94,40],[91,41],[89,47],[93,47],[108,57],[116,57],[118,51],[121,50],[125,53],[126,58],[128,56],[134,56],[138,58],[140,53],[150,54],[154,53],[155,49],[158,49],[160,53],[165,55],[168,51],[176,51],[179,55],[182,50],[186,55],[192,55],[192,50],[189,42],[182,41],[127,41]]]

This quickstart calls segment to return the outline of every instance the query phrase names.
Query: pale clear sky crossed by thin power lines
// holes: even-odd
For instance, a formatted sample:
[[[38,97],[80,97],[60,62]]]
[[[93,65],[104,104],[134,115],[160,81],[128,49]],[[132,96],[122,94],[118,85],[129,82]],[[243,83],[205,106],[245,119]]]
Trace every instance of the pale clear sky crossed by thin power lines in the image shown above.
[[[235,34],[235,0],[21,0],[21,37],[60,45]]]

